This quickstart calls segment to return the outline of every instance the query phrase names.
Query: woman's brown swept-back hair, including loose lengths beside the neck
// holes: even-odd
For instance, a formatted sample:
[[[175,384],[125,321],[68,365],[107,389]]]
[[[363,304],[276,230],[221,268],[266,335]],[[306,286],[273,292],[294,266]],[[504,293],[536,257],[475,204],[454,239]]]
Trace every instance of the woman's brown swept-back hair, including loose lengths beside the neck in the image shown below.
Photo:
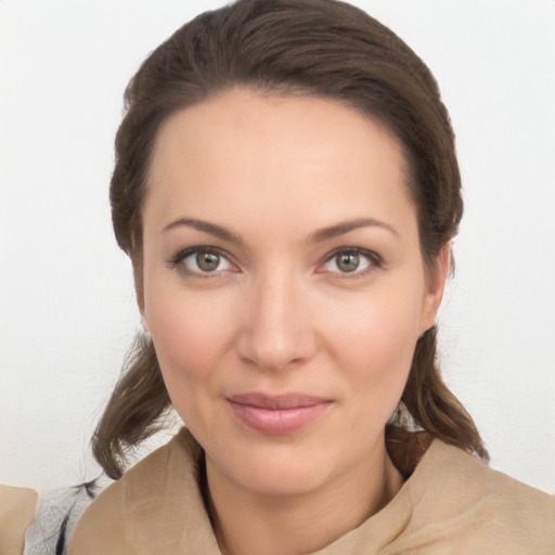
[[[382,121],[399,140],[416,206],[423,258],[433,270],[463,212],[454,135],[431,73],[390,29],[336,0],[238,0],[185,24],[142,64],[126,94],[111,184],[116,240],[131,257],[142,305],[141,212],[160,125],[232,87],[336,99]],[[473,420],[441,379],[436,328],[417,341],[402,409],[386,427],[408,475],[431,439],[487,460]],[[152,435],[170,400],[152,341],[129,356],[93,437],[112,478],[127,450]]]

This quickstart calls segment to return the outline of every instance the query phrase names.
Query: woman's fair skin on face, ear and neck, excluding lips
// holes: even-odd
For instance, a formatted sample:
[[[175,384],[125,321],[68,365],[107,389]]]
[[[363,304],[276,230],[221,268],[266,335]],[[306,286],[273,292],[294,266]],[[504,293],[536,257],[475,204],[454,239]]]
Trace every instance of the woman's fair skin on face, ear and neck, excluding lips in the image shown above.
[[[319,98],[233,89],[159,131],[139,297],[173,406],[206,452],[223,553],[322,548],[402,486],[384,427],[449,268],[447,245],[424,268],[403,167],[383,126]],[[215,271],[183,255],[195,246],[221,254]],[[370,255],[346,272],[340,248]],[[326,403],[300,429],[264,434],[230,406],[253,391]]]

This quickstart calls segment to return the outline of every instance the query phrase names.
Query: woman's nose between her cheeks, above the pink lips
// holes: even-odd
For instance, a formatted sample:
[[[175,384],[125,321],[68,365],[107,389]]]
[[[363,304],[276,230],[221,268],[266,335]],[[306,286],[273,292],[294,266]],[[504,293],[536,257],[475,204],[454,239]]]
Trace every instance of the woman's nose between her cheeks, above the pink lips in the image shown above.
[[[236,340],[240,357],[261,370],[280,371],[310,360],[318,348],[307,295],[291,276],[253,283]]]

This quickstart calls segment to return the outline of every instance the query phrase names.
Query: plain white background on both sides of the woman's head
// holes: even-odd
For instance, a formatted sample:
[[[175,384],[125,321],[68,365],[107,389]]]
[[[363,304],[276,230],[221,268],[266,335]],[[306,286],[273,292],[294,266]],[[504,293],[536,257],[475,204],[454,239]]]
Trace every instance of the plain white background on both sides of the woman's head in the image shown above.
[[[440,318],[492,466],[555,493],[555,2],[359,0],[428,63],[466,214]],[[221,1],[1,0],[0,481],[95,474],[88,441],[135,331],[107,188],[121,94]]]

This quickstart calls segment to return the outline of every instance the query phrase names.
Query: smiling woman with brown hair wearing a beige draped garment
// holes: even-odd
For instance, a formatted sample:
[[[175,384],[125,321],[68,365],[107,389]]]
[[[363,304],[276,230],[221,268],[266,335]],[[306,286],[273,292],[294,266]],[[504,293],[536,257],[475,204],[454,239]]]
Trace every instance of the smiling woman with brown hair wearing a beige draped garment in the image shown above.
[[[347,4],[244,0],[159,47],[127,103],[113,220],[149,338],[94,453],[117,479],[170,406],[188,431],[68,553],[553,551],[553,499],[478,461],[435,365],[462,201],[415,54]]]

